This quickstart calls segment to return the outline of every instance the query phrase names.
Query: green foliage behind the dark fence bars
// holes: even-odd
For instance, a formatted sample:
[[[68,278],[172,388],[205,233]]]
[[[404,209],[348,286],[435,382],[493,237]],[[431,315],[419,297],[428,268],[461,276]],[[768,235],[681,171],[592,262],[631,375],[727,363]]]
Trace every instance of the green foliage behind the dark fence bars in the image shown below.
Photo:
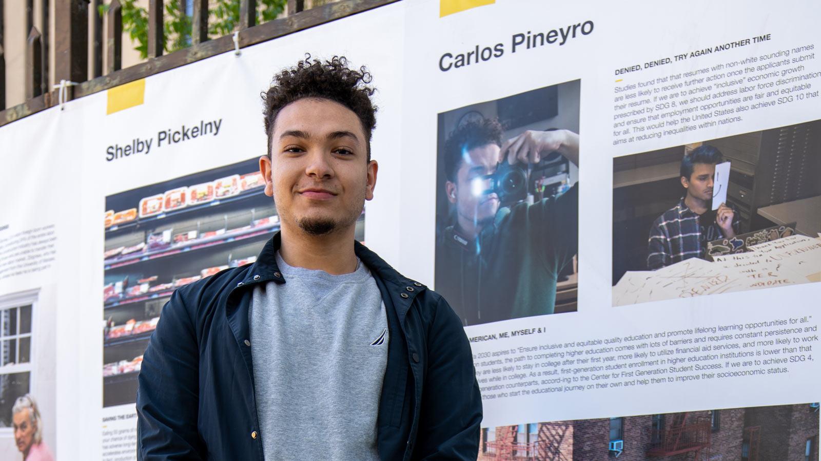
[[[179,0],[164,0],[163,30],[164,52],[175,52],[190,46],[191,18],[181,9]],[[136,4],[136,0],[121,0],[122,30],[127,32],[140,58],[149,55],[149,11]],[[285,10],[287,0],[259,0],[256,11],[257,24],[276,19]],[[109,4],[99,6],[99,14],[108,12]],[[209,37],[231,34],[240,24],[240,0],[209,1]]]

